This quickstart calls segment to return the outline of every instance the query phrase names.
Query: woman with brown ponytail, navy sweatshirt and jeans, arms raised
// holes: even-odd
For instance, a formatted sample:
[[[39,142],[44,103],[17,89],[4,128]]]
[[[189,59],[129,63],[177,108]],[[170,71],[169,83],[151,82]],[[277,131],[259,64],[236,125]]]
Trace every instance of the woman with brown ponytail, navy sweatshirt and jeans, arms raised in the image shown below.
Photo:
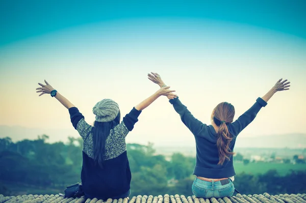
[[[148,74],[148,79],[160,86],[165,83],[158,73]],[[289,90],[287,80],[279,79],[271,90],[243,113],[235,122],[235,108],[232,104],[218,104],[211,115],[211,125],[195,119],[179,97],[170,98],[174,110],[180,114],[181,120],[192,132],[196,143],[196,164],[193,175],[192,192],[196,197],[222,198],[234,194],[233,154],[238,134],[249,125],[268,100],[279,91]]]

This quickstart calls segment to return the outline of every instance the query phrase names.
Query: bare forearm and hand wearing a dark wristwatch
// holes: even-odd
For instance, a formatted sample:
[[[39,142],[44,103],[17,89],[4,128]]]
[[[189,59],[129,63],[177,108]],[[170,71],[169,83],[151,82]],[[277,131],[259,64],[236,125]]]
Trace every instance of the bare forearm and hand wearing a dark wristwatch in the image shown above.
[[[66,99],[64,96],[62,96],[59,92],[57,92],[46,80],[44,80],[46,84],[38,83],[41,88],[36,88],[37,93],[41,93],[39,96],[44,94],[55,94],[55,96],[52,94],[51,96],[55,97],[61,104],[63,104],[67,109],[74,107],[74,105]]]

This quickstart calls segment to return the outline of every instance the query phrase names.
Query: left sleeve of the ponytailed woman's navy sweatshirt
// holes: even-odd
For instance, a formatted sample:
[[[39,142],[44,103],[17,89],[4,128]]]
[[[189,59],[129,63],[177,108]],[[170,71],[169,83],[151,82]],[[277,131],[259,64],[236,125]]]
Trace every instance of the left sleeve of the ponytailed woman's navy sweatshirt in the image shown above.
[[[187,107],[182,104],[179,97],[170,99],[169,102],[173,105],[174,110],[180,114],[181,120],[194,136],[199,136],[205,133],[207,130],[207,125],[194,118]]]

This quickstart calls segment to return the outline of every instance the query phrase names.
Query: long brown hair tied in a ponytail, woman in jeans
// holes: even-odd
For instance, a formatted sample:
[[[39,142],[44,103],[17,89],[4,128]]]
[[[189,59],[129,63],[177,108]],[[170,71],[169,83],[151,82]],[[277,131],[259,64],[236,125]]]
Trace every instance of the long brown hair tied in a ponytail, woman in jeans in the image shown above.
[[[217,147],[219,152],[219,165],[222,165],[225,159],[230,160],[234,154],[231,152],[230,143],[233,136],[228,132],[227,125],[232,123],[235,115],[235,108],[232,104],[222,102],[218,104],[212,114],[214,123],[219,127],[217,132]]]

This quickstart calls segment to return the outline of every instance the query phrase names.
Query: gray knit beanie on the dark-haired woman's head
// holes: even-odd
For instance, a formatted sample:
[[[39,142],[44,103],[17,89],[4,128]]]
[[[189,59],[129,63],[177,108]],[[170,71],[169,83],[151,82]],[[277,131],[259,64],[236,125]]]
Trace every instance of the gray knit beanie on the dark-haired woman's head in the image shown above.
[[[92,112],[96,115],[97,122],[110,122],[117,117],[119,105],[111,99],[104,99],[94,105]]]

